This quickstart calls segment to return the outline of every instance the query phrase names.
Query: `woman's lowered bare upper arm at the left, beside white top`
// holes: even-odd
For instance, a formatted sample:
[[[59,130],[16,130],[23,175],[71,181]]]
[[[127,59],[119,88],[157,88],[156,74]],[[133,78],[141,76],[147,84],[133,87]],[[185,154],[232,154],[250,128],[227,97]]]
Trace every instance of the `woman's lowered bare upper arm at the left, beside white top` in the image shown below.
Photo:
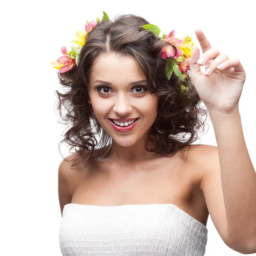
[[[61,217],[63,208],[70,204],[72,200],[72,170],[67,161],[62,160],[58,168],[58,198],[61,208]]]

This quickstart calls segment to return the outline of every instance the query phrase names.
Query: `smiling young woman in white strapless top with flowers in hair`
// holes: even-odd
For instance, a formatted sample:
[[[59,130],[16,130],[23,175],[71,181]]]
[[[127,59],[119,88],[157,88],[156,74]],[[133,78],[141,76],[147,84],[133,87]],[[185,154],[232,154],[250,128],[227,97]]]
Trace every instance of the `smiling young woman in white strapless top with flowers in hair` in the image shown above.
[[[66,62],[55,65],[68,88],[57,92],[58,109],[72,124],[63,141],[76,148],[58,170],[62,254],[203,256],[209,214],[227,246],[255,252],[256,174],[238,110],[241,63],[212,49],[199,29],[201,64],[188,37],[187,45],[173,33],[161,39],[136,15],[104,17],[88,23],[84,37],[78,32],[82,47],[63,51]],[[218,148],[191,144],[207,111]]]

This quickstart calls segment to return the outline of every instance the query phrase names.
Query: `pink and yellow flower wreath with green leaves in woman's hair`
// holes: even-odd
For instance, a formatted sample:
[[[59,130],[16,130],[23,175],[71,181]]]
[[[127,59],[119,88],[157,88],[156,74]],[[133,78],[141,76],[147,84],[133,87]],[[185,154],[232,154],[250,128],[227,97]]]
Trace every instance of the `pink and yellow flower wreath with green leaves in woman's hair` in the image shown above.
[[[104,11],[102,12],[103,12],[102,20],[109,20],[108,15]],[[86,33],[82,31],[77,31],[76,34],[74,35],[75,40],[70,42],[77,45],[77,46],[74,46],[74,45],[71,46],[72,50],[67,51],[66,47],[61,47],[61,53],[63,56],[61,56],[57,60],[53,60],[50,62],[55,69],[59,70],[60,73],[65,73],[68,70],[71,70],[75,64],[78,65],[81,47],[85,44],[88,33],[100,21],[101,20],[98,17],[96,21],[95,20],[86,21],[87,22],[87,24],[85,24]],[[172,30],[172,32],[170,32],[169,35],[166,35],[163,33],[163,35],[159,37],[161,30],[159,29],[158,26],[154,24],[145,24],[141,27],[152,32],[154,35],[160,38],[160,41],[166,41],[169,44],[176,47],[177,49],[176,55],[175,55],[175,50],[171,45],[163,47],[160,51],[160,58],[166,59],[165,73],[168,80],[171,78],[172,73],[174,72],[175,75],[178,77],[178,79],[185,82],[186,85],[181,84],[181,87],[180,87],[181,95],[184,95],[186,91],[187,92],[189,91],[187,70],[190,70],[190,69],[189,69],[188,59],[192,54],[192,47],[193,45],[195,45],[195,42],[192,41],[192,37],[189,37],[188,35],[184,35],[182,39],[175,38],[175,30]],[[190,98],[190,97],[187,96],[187,98]],[[191,102],[189,100],[188,102],[191,105]]]

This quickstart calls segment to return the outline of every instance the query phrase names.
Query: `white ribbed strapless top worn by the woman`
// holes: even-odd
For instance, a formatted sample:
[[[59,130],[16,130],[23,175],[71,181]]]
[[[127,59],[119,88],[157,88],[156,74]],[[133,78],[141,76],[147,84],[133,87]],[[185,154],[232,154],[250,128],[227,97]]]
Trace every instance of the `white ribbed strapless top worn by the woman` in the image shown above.
[[[203,256],[207,227],[174,204],[66,204],[63,256]]]

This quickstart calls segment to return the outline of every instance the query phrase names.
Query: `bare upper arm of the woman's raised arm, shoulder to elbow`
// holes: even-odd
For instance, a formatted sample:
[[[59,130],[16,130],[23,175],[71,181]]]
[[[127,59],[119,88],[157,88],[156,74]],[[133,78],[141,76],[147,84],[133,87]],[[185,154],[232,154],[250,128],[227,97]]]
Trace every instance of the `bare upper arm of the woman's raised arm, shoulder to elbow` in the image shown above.
[[[205,166],[203,168],[204,172],[201,178],[200,189],[204,193],[209,215],[221,239],[228,247],[233,249],[233,243],[227,229],[218,147],[201,145],[201,148],[198,150],[198,159],[201,161],[201,166]]]

